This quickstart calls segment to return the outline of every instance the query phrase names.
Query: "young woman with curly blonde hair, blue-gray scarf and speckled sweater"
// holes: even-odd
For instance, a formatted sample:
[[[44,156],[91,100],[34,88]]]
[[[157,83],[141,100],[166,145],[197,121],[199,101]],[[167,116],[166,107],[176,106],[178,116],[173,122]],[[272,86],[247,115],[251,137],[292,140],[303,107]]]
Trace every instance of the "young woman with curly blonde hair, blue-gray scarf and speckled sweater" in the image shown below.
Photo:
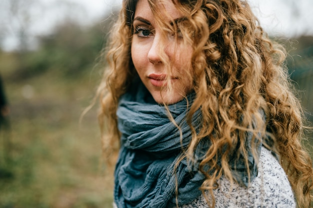
[[[99,88],[114,206],[312,206],[284,58],[244,0],[123,0]]]

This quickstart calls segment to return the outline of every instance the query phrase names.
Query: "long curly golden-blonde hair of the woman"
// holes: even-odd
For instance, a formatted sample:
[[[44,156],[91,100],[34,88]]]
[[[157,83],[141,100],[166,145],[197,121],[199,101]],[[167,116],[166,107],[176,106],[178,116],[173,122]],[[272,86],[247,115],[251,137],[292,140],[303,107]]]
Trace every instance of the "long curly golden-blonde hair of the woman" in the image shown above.
[[[109,65],[98,89],[105,157],[119,148],[118,99],[137,76],[130,56],[136,2],[123,1],[106,50]],[[161,16],[158,4],[154,0],[148,2],[154,16]],[[196,97],[187,116],[189,124],[196,110],[202,112],[202,127],[196,133],[191,126],[192,140],[182,157],[192,160],[201,140],[210,140],[212,144],[200,164],[200,171],[206,176],[201,190],[208,190],[212,196],[216,180],[222,175],[232,182],[229,154],[247,155],[245,133],[250,131],[256,141],[251,146],[253,155],[259,142],[275,151],[288,176],[297,207],[312,207],[312,163],[301,145],[303,113],[283,65],[286,57],[283,47],[267,37],[245,0],[173,3],[186,17],[177,27],[193,46],[189,77]],[[253,123],[256,123],[254,127]],[[262,138],[267,141],[261,141]],[[221,158],[220,167],[217,158]],[[214,170],[213,175],[204,170],[205,165]],[[246,167],[249,172],[247,161]],[[214,206],[213,196],[212,199]]]

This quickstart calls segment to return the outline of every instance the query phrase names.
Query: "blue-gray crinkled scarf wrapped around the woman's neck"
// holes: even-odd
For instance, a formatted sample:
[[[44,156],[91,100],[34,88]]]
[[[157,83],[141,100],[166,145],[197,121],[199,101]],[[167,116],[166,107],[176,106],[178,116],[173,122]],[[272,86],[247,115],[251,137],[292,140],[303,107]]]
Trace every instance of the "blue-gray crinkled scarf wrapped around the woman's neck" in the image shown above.
[[[185,117],[187,103],[191,106],[193,98],[194,93],[191,93],[187,99],[168,106],[180,132],[168,119],[164,106],[153,100],[141,82],[121,96],[117,109],[121,148],[114,173],[114,202],[118,208],[181,206],[201,195],[199,187],[205,177],[198,171],[198,166],[210,144],[198,145],[195,162],[190,165],[183,159],[174,173],[181,150],[191,140]],[[200,110],[194,113],[191,123],[195,131],[200,129]],[[249,147],[251,139],[246,141]],[[260,150],[260,146],[257,149]],[[250,176],[247,176],[243,161],[233,161],[230,168],[234,179],[247,186],[248,178],[252,181],[256,177],[257,167],[248,151]]]

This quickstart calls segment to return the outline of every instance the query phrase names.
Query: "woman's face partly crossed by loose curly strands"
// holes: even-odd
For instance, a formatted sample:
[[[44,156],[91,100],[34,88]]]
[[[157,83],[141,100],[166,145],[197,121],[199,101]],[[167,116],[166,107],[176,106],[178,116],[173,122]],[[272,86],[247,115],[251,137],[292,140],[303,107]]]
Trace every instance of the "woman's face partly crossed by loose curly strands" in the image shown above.
[[[168,22],[182,17],[171,0],[161,2],[164,5],[160,6],[164,8],[164,16],[169,15]],[[187,79],[184,73],[191,73],[191,45],[182,44],[182,40],[179,40],[182,37],[176,38],[169,33],[165,35],[165,39],[162,38],[162,28],[155,23],[147,0],[137,2],[133,28],[131,58],[141,81],[157,103],[173,104],[180,101],[192,90],[192,80]],[[159,44],[161,39],[163,49]],[[170,61],[170,72],[161,61],[160,55],[166,55]],[[167,86],[168,80],[171,87]]]

